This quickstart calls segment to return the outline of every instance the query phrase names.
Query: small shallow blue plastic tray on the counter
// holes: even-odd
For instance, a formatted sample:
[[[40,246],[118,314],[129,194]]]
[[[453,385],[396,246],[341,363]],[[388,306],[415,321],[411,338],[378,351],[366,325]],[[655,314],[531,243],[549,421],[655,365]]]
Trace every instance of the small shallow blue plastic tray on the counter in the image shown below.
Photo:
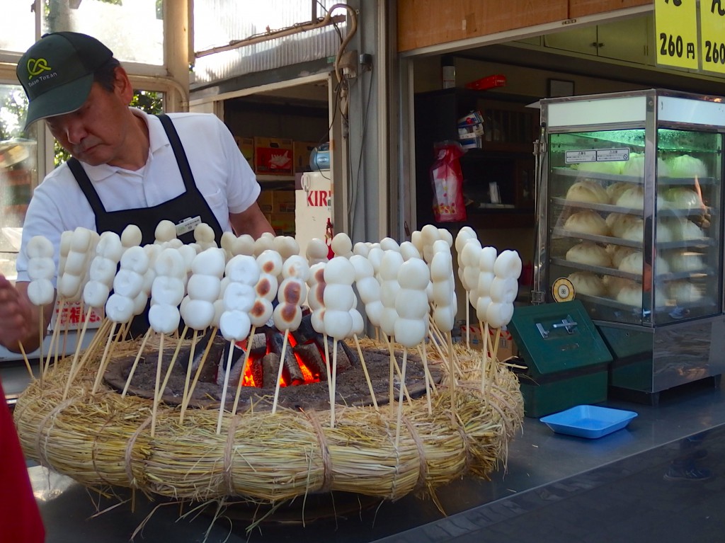
[[[621,430],[636,416],[637,413],[634,411],[598,405],[577,405],[539,420],[557,434],[597,439],[611,434],[613,431]]]

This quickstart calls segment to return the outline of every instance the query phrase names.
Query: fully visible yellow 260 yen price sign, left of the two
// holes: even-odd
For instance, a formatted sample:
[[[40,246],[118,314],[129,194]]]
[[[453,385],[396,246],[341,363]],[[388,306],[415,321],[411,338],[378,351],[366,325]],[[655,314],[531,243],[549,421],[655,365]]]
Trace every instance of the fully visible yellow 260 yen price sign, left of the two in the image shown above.
[[[697,70],[697,2],[655,0],[658,65]]]

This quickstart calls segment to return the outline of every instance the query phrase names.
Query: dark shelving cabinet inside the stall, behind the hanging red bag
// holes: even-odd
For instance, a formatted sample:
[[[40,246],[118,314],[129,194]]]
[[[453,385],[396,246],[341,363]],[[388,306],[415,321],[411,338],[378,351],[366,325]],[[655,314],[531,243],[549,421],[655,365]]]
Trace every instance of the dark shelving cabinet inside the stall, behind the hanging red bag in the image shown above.
[[[418,225],[434,223],[430,168],[434,146],[457,141],[457,120],[481,112],[481,147],[460,158],[467,223],[480,228],[534,225],[534,139],[539,110],[526,101],[510,101],[486,91],[448,88],[415,96],[415,175]],[[497,183],[500,204],[492,204],[489,183]]]

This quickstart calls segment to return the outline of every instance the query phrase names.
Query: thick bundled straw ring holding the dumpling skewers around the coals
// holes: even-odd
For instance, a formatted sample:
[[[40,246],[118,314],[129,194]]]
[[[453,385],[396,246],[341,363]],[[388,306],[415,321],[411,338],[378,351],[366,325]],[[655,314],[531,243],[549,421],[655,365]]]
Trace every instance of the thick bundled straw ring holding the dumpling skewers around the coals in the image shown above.
[[[59,361],[43,389],[30,384],[14,417],[25,455],[86,486],[199,501],[278,502],[333,490],[397,500],[468,473],[486,477],[521,428],[513,372],[489,365],[481,394],[481,352],[457,347],[456,354],[465,380],[455,386],[455,407],[447,377],[432,398],[432,415],[426,397],[406,401],[397,447],[397,405],[337,406],[335,428],[328,411],[252,408],[225,413],[220,434],[218,410],[187,410],[179,424],[178,407],[161,405],[152,437],[151,400],[103,386],[91,394],[97,360],[65,400],[70,359]]]

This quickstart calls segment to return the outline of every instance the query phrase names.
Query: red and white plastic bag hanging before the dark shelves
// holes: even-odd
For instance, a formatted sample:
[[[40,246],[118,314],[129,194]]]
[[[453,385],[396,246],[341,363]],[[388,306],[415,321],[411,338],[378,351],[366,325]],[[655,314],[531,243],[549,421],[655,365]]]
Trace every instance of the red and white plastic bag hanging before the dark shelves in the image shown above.
[[[456,142],[436,144],[436,161],[431,166],[433,186],[433,215],[436,223],[465,220],[463,202],[463,173],[460,161],[463,148]]]

